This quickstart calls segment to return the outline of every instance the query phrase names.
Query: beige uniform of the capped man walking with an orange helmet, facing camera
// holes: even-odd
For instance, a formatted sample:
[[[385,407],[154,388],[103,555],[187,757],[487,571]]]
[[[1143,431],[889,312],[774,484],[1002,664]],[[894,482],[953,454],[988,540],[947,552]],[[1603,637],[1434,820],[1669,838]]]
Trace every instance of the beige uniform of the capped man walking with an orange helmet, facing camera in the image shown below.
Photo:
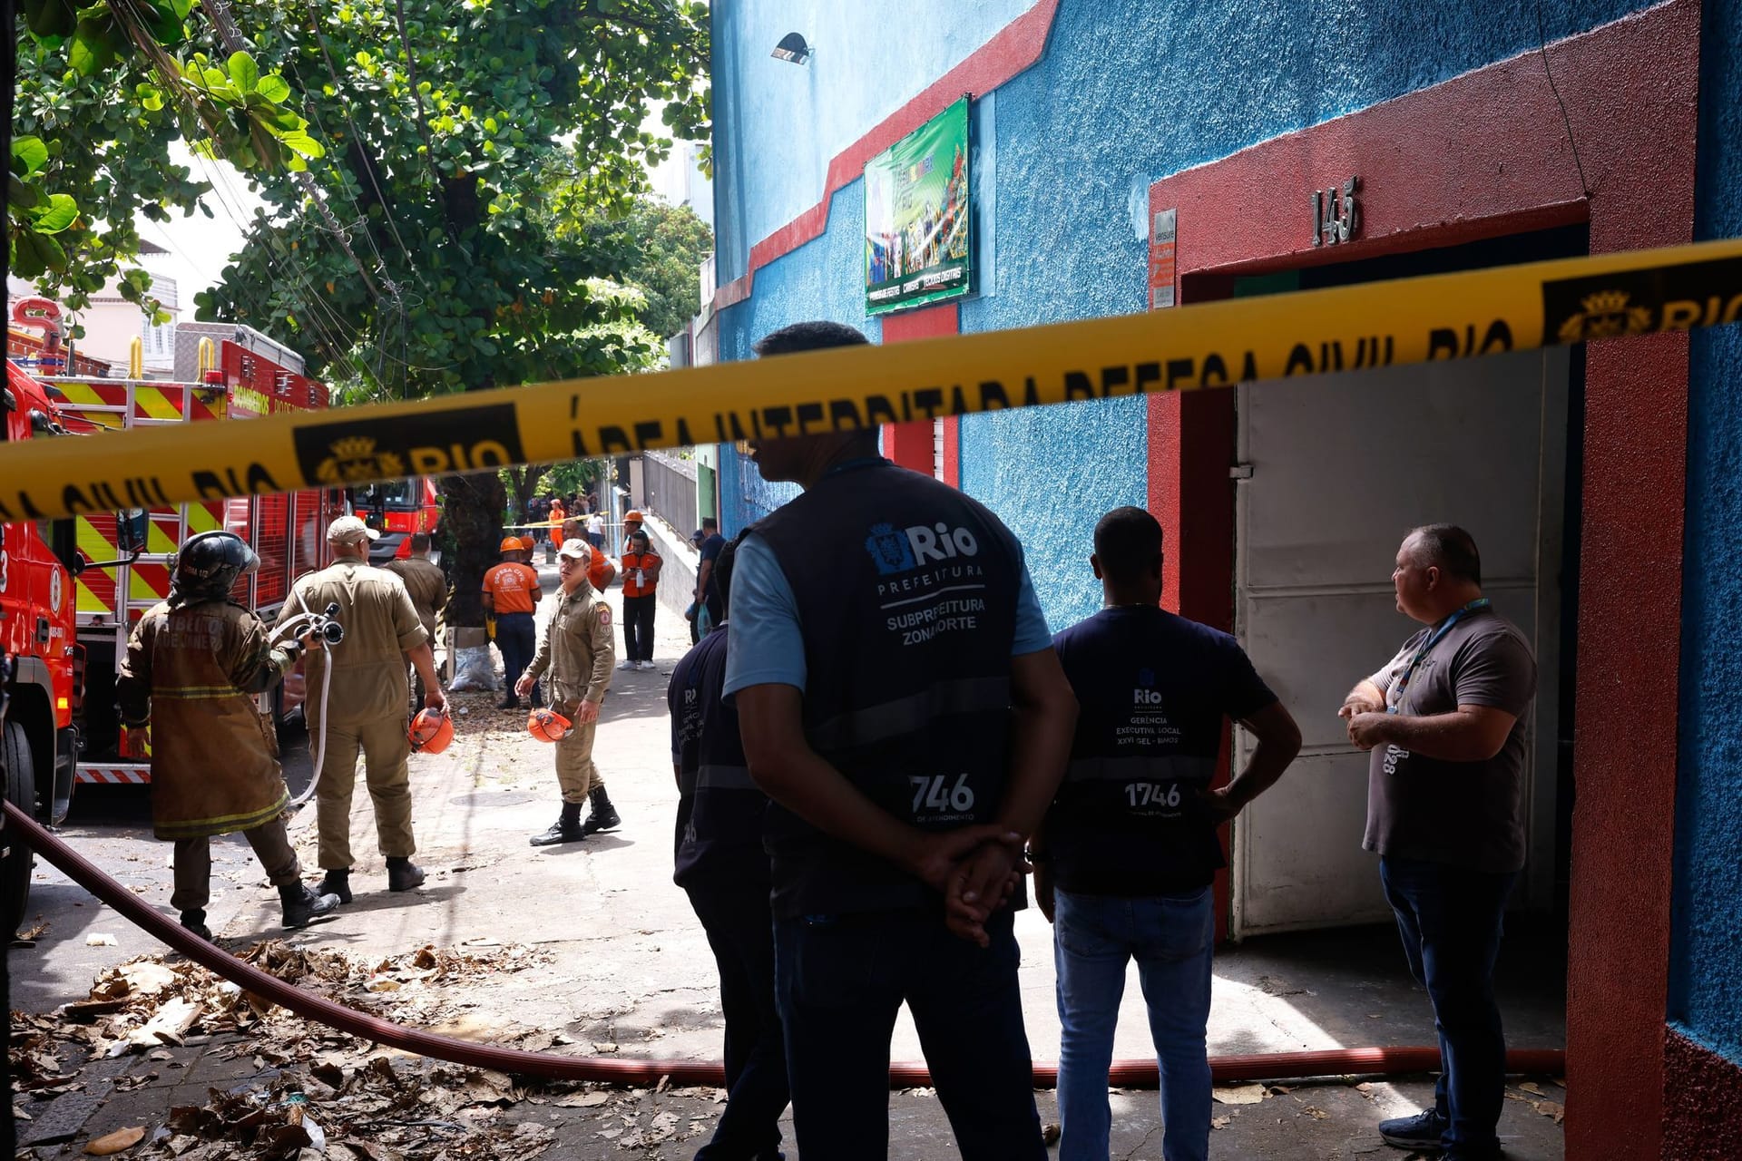
[[[550,708],[573,721],[582,701],[604,701],[615,663],[611,606],[599,601],[585,583],[571,594],[557,594],[538,654],[526,668],[533,681],[549,674]],[[575,733],[556,743],[556,780],[563,787],[564,802],[585,802],[591,790],[604,789],[604,778],[592,762],[596,728],[596,721],[585,726],[575,722]]]

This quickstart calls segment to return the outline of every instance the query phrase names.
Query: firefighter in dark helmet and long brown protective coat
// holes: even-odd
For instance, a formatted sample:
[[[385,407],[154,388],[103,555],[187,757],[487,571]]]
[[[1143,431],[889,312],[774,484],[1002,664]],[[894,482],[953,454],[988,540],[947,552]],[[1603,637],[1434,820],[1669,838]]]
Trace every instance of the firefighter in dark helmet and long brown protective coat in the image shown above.
[[[273,644],[249,609],[230,601],[260,557],[235,533],[199,533],[176,552],[169,601],[146,611],[127,639],[117,698],[138,754],[152,738],[152,829],[176,844],[169,896],[181,926],[213,938],[211,837],[242,832],[284,902],[284,926],[301,928],[338,907],[301,881],[284,832],[289,790],[272,722],[254,695],[282,681],[317,637]]]

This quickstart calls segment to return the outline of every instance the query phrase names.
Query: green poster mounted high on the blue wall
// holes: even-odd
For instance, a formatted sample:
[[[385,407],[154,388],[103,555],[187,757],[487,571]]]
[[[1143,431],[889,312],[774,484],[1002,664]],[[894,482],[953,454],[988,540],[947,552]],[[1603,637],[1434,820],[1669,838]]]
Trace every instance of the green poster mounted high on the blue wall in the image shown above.
[[[866,312],[972,291],[969,99],[866,162]]]

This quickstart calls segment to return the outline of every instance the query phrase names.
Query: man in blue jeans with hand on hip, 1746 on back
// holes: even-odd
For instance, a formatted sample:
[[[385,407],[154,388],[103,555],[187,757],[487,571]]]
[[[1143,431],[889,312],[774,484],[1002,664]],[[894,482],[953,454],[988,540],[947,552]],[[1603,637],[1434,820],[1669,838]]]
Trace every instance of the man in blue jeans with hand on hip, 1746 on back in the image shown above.
[[[1059,1161],[1106,1161],[1106,1076],[1131,959],[1162,1077],[1162,1158],[1204,1161],[1211,884],[1226,865],[1216,829],[1282,776],[1301,735],[1233,637],[1160,607],[1155,517],[1101,517],[1089,567],[1106,607],[1052,639],[1082,708],[1064,785],[1030,851],[1054,923]],[[1225,719],[1258,745],[1211,790]]]

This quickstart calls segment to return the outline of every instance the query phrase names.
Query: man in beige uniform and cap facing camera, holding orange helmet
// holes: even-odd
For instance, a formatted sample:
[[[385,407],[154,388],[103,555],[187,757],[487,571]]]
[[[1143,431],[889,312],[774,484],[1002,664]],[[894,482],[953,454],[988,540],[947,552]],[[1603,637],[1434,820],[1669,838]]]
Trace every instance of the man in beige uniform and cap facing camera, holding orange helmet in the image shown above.
[[[610,830],[622,818],[604,794],[604,778],[592,764],[592,733],[599,724],[599,703],[611,684],[611,665],[617,646],[611,634],[611,606],[604,604],[587,583],[587,562],[592,552],[587,541],[570,540],[556,555],[563,592],[538,642],[538,654],[514,688],[526,696],[533,682],[547,670],[550,674],[549,700],[563,717],[575,724],[573,733],[556,743],[556,780],[563,787],[563,815],[544,834],[531,837],[533,846],[577,842],[594,830]],[[592,801],[592,813],[580,822],[580,808]]]

